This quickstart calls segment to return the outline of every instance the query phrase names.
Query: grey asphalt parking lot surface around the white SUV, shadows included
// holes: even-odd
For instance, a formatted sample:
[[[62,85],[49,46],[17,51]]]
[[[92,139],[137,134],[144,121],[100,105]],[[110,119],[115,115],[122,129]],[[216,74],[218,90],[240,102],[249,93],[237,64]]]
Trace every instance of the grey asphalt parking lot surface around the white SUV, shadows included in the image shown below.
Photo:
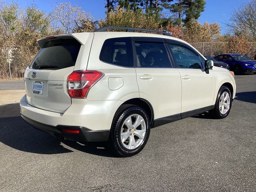
[[[205,113],[153,128],[131,158],[0,118],[0,191],[256,191],[256,75],[236,84],[227,118]]]

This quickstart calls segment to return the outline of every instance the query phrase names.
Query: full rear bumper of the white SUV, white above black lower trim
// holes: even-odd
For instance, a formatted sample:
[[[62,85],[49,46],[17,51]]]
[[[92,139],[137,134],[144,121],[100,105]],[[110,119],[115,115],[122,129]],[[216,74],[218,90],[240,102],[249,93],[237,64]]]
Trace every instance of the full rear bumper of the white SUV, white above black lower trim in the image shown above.
[[[26,95],[20,100],[22,118],[33,127],[54,136],[76,141],[106,141],[114,114],[122,101],[90,101],[72,99],[72,105],[64,112],[52,112],[34,107],[26,102]],[[62,129],[80,130],[70,134]]]

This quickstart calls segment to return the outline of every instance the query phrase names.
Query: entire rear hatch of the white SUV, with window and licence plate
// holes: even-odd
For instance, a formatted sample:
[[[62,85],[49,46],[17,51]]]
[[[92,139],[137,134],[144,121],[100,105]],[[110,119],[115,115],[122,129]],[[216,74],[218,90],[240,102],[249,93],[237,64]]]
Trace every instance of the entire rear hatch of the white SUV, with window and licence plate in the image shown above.
[[[64,113],[71,105],[67,78],[73,72],[81,43],[72,36],[39,40],[40,50],[25,72],[28,104]]]

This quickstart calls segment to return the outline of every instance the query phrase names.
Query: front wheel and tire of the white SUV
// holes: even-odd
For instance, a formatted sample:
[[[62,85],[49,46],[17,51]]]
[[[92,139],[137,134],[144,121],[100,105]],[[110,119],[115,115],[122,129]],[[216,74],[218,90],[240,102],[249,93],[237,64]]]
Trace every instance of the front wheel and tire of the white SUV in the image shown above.
[[[221,86],[214,109],[210,113],[217,119],[226,118],[232,106],[232,94],[227,86]]]

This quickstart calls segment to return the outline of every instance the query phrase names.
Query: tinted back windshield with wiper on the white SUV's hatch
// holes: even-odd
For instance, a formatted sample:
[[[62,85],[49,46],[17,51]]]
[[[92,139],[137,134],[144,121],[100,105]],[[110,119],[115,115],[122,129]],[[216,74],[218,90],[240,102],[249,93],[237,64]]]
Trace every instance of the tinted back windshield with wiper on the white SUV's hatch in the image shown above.
[[[75,39],[51,40],[32,61],[32,69],[62,69],[74,66],[81,44]]]

